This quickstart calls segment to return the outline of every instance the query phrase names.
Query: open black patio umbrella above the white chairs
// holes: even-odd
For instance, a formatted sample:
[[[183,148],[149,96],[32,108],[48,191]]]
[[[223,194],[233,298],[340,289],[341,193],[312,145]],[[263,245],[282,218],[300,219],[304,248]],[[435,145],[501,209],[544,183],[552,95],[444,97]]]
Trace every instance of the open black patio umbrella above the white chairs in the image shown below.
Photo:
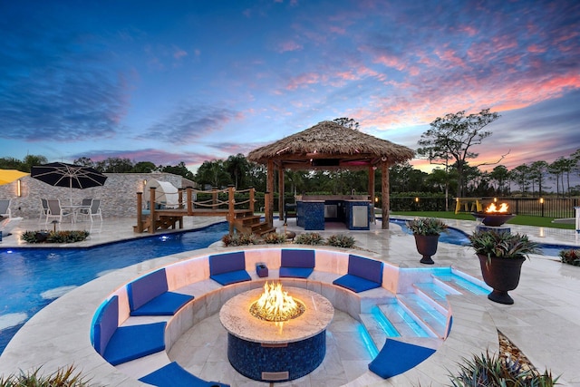
[[[69,187],[71,189],[71,204],[73,204],[73,189],[99,187],[107,179],[97,169],[64,162],[34,165],[30,176],[53,187]]]

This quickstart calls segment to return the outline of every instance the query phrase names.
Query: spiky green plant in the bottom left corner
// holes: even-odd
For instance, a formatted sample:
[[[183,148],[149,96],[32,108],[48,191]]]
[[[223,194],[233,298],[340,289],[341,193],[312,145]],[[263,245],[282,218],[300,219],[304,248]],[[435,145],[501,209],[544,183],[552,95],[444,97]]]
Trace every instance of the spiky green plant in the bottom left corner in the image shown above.
[[[47,376],[39,375],[40,368],[34,372],[21,372],[20,375],[0,376],[0,387],[88,387],[81,372],[75,373],[74,366],[59,368]]]

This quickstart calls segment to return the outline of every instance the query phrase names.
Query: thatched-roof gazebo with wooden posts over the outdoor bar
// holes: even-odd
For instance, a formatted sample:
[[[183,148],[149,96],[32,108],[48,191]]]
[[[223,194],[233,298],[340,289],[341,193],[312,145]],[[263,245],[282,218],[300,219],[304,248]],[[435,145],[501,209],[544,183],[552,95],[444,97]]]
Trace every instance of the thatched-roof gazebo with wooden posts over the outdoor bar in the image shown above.
[[[274,192],[274,172],[279,170],[280,193],[284,193],[285,169],[368,169],[369,195],[374,197],[374,169],[382,171],[382,218],[389,218],[389,167],[411,160],[414,150],[362,131],[323,121],[299,133],[252,150],[247,159],[267,165],[266,190]],[[272,224],[274,196],[266,199],[266,221]],[[279,213],[284,213],[280,200]],[[389,228],[389,222],[382,222]]]

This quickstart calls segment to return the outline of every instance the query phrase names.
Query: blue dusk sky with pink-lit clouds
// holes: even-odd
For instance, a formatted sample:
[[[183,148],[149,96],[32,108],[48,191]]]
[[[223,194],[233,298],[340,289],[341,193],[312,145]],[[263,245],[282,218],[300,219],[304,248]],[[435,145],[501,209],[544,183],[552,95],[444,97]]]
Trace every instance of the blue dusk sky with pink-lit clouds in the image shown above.
[[[577,0],[0,0],[0,36],[0,157],[195,171],[338,117],[415,150],[485,108],[472,165],[580,149]]]

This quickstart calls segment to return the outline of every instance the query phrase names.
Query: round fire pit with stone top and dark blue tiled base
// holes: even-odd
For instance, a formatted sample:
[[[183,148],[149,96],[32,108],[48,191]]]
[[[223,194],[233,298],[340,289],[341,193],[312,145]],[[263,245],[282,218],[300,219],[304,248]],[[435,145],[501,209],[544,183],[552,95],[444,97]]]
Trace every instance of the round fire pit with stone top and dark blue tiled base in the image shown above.
[[[227,330],[229,363],[250,379],[291,381],[313,372],[324,360],[333,305],[307,289],[287,287],[286,291],[304,305],[304,312],[284,322],[250,314],[263,288],[230,298],[219,311],[219,320]]]

